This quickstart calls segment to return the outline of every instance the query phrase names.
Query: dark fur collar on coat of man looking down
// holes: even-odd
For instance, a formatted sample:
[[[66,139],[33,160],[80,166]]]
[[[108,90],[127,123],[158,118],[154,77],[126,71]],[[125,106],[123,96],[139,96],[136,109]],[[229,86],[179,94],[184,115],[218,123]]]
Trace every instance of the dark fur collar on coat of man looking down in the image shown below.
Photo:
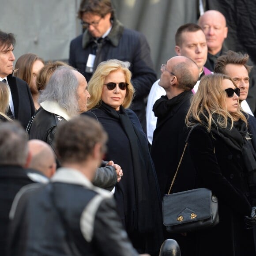
[[[114,17],[113,27],[106,38],[108,38],[108,40],[113,46],[117,47],[117,45],[119,44],[120,38],[123,35],[123,31],[124,31],[124,25]],[[83,33],[83,39],[82,39],[83,49],[85,49],[93,41],[94,41],[94,38],[90,35],[88,30],[85,30]]]

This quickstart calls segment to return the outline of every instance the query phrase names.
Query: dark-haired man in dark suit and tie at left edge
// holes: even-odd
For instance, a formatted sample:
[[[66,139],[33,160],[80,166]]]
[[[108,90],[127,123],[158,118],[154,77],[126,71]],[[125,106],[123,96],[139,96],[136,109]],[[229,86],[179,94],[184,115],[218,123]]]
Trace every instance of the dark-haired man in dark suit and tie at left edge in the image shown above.
[[[14,34],[0,30],[0,81],[7,83],[11,92],[8,116],[19,120],[26,129],[35,108],[28,84],[12,75],[15,43]]]

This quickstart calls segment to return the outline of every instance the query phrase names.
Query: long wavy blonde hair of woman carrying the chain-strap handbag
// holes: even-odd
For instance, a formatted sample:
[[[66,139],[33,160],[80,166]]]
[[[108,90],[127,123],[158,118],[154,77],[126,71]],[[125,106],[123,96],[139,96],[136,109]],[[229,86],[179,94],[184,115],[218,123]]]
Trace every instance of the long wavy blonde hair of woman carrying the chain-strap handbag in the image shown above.
[[[217,127],[227,128],[228,118],[231,120],[230,129],[233,127],[233,121],[240,118],[247,124],[247,119],[241,112],[239,102],[236,113],[230,113],[226,110],[227,96],[222,88],[224,79],[229,79],[237,87],[233,79],[227,75],[215,73],[203,76],[196,94],[192,97],[192,102],[185,119],[188,127],[192,127],[197,122],[202,123],[202,118],[207,121],[207,130],[209,132],[213,123]],[[213,118],[213,114],[218,115],[217,120]]]

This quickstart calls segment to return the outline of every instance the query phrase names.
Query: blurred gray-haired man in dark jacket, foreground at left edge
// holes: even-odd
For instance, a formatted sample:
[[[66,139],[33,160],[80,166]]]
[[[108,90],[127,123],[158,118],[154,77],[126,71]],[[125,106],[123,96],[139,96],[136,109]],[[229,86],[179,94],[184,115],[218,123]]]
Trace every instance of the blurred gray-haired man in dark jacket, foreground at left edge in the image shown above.
[[[17,192],[34,183],[26,174],[31,154],[18,121],[0,122],[0,255],[5,256],[9,211]]]

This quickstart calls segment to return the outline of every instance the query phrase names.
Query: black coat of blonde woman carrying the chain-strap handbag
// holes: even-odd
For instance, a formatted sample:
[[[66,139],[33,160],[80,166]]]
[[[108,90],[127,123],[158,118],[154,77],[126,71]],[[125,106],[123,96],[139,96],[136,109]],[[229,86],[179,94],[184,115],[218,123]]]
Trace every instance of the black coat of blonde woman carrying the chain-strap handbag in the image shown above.
[[[198,187],[209,188],[218,197],[220,219],[214,228],[190,234],[194,242],[189,255],[254,256],[252,230],[244,228],[244,216],[250,215],[251,204],[241,151],[228,146],[218,135],[213,139],[203,125],[191,132],[188,151]]]

